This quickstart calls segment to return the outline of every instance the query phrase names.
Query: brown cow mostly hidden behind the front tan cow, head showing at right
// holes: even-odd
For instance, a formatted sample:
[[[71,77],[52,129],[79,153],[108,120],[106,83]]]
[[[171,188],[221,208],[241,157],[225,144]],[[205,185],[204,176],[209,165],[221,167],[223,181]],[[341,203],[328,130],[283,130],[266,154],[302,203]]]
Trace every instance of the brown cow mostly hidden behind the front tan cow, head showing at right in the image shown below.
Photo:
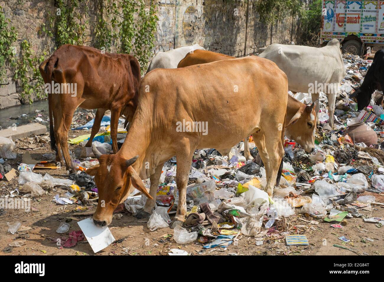
[[[195,64],[205,64],[228,59],[235,59],[235,57],[207,50],[195,50],[194,53],[186,54],[177,67],[184,68]],[[316,103],[317,102],[307,106],[288,95],[286,120],[290,121],[290,124],[287,124],[285,127],[285,135],[291,140],[296,140],[307,153],[312,152],[314,149],[316,132],[316,112],[314,107]],[[249,152],[248,138],[246,138],[244,142],[244,157],[247,160],[253,158]]]

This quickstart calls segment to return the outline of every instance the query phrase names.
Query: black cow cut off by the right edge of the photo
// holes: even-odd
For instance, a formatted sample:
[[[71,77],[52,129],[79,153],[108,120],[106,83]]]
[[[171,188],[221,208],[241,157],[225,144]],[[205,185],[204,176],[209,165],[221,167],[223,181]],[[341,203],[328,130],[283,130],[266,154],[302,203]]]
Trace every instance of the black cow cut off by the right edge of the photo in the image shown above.
[[[364,81],[360,87],[354,87],[354,89],[355,92],[349,97],[356,97],[358,101],[358,110],[362,110],[369,105],[372,93],[375,90],[382,91],[382,89],[384,89],[384,49],[380,49],[376,52]]]

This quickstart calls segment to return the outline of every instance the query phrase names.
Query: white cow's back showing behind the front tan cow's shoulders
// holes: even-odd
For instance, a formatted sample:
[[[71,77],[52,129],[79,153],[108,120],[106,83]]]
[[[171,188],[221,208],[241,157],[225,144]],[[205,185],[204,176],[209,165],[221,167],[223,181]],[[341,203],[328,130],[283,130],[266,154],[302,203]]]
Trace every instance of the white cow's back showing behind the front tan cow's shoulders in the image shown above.
[[[185,55],[189,52],[192,52],[196,49],[205,50],[199,44],[179,47],[173,50],[159,52],[157,53],[149,64],[147,73],[152,71],[152,69],[177,69],[177,64],[184,59]]]

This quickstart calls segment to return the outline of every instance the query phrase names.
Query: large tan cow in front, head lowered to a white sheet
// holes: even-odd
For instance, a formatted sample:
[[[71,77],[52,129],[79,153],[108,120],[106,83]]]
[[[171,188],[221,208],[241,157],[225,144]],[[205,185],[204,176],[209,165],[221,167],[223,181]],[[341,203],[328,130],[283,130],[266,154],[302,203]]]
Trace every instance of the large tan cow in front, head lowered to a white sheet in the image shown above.
[[[180,224],[187,212],[186,186],[194,151],[216,148],[224,153],[250,134],[265,163],[265,190],[272,196],[284,155],[287,100],[286,75],[275,63],[256,56],[150,71],[141,81],[137,110],[119,152],[101,155],[92,147],[99,159],[99,165],[86,171],[95,176],[99,190],[94,223],[111,223],[131,184],[148,194],[137,172],[151,180],[151,197],[137,217],[149,216],[164,162],[176,155],[179,204],[172,227]],[[208,125],[207,131],[202,132],[202,123]]]

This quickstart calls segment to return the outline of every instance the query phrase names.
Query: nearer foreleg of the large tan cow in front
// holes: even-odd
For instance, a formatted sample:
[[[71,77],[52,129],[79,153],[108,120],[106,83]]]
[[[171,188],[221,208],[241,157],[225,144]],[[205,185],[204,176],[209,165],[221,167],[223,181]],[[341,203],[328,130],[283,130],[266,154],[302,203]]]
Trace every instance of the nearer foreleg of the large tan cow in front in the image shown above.
[[[191,142],[192,140],[187,141]],[[176,216],[171,228],[175,228],[177,225],[182,225],[185,220],[185,215],[187,214],[187,183],[192,157],[195,151],[195,147],[192,147],[189,142],[179,144],[176,151],[176,185],[177,190],[179,190],[179,203],[177,204]]]

